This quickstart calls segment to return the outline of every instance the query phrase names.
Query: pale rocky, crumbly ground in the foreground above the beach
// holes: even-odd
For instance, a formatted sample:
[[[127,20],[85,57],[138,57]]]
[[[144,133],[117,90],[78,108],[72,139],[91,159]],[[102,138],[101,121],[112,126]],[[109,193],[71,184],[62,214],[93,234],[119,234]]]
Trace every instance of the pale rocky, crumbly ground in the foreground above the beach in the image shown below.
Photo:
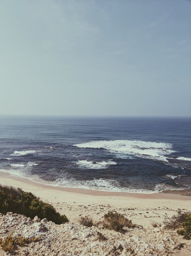
[[[99,227],[88,228],[77,223],[56,225],[46,219],[34,220],[16,213],[0,214],[0,237],[12,233],[14,236],[41,236],[37,242],[18,246],[15,252],[5,253],[0,249],[0,256],[164,256],[191,255],[191,243],[176,234],[160,228],[132,228],[124,233]]]

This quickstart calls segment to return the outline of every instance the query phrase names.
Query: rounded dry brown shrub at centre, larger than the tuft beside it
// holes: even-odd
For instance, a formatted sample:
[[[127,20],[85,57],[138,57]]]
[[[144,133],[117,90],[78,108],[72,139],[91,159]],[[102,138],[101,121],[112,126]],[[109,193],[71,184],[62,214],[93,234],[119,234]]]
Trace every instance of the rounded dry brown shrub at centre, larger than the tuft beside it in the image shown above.
[[[137,226],[132,224],[131,220],[128,220],[120,213],[116,213],[113,211],[108,211],[108,213],[104,215],[104,219],[105,228],[118,232],[122,232],[124,227],[134,228],[135,226]]]

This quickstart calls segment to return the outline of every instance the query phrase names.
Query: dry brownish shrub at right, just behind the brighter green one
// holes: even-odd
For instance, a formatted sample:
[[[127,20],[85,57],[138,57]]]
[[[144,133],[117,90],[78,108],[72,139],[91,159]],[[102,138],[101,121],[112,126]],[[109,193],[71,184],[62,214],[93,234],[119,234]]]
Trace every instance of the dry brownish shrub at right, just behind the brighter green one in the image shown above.
[[[166,229],[176,229],[181,227],[181,223],[186,221],[186,217],[189,212],[182,212],[178,210],[176,215],[173,215],[170,219],[163,221]]]

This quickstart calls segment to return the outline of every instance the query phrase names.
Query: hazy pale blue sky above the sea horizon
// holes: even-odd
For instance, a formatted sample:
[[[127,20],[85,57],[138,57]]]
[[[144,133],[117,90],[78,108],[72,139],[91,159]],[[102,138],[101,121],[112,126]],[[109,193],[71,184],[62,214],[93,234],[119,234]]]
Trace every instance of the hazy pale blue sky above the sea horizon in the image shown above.
[[[0,0],[0,114],[191,116],[191,1]]]

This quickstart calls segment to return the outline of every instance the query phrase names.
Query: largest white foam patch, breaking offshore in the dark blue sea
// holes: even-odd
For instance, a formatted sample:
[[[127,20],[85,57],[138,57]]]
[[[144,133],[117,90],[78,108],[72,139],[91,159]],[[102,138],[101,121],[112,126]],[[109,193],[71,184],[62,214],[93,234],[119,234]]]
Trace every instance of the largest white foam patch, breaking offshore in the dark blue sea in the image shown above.
[[[166,156],[175,152],[172,144],[164,142],[146,142],[141,140],[99,140],[74,144],[81,148],[107,149],[118,157],[134,155],[136,157],[157,159],[168,162]]]

